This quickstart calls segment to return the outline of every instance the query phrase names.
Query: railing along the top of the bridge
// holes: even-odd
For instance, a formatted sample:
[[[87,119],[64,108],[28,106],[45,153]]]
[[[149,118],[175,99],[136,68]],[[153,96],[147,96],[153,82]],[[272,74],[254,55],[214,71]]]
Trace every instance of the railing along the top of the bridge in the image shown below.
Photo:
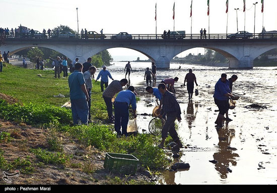
[[[80,40],[201,40],[201,39],[276,39],[277,33],[256,34],[43,34],[9,33],[0,34],[4,39],[80,39]]]

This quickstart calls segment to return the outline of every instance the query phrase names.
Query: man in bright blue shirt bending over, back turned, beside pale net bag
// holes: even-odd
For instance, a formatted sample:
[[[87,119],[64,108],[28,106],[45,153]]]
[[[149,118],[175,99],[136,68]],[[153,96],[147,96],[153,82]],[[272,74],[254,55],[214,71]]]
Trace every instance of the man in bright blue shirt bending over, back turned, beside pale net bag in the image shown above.
[[[133,116],[136,117],[136,100],[134,87],[129,86],[128,90],[120,91],[114,101],[114,130],[117,136],[128,136],[127,124],[129,121],[129,106],[132,105]],[[120,128],[122,127],[122,133]]]

